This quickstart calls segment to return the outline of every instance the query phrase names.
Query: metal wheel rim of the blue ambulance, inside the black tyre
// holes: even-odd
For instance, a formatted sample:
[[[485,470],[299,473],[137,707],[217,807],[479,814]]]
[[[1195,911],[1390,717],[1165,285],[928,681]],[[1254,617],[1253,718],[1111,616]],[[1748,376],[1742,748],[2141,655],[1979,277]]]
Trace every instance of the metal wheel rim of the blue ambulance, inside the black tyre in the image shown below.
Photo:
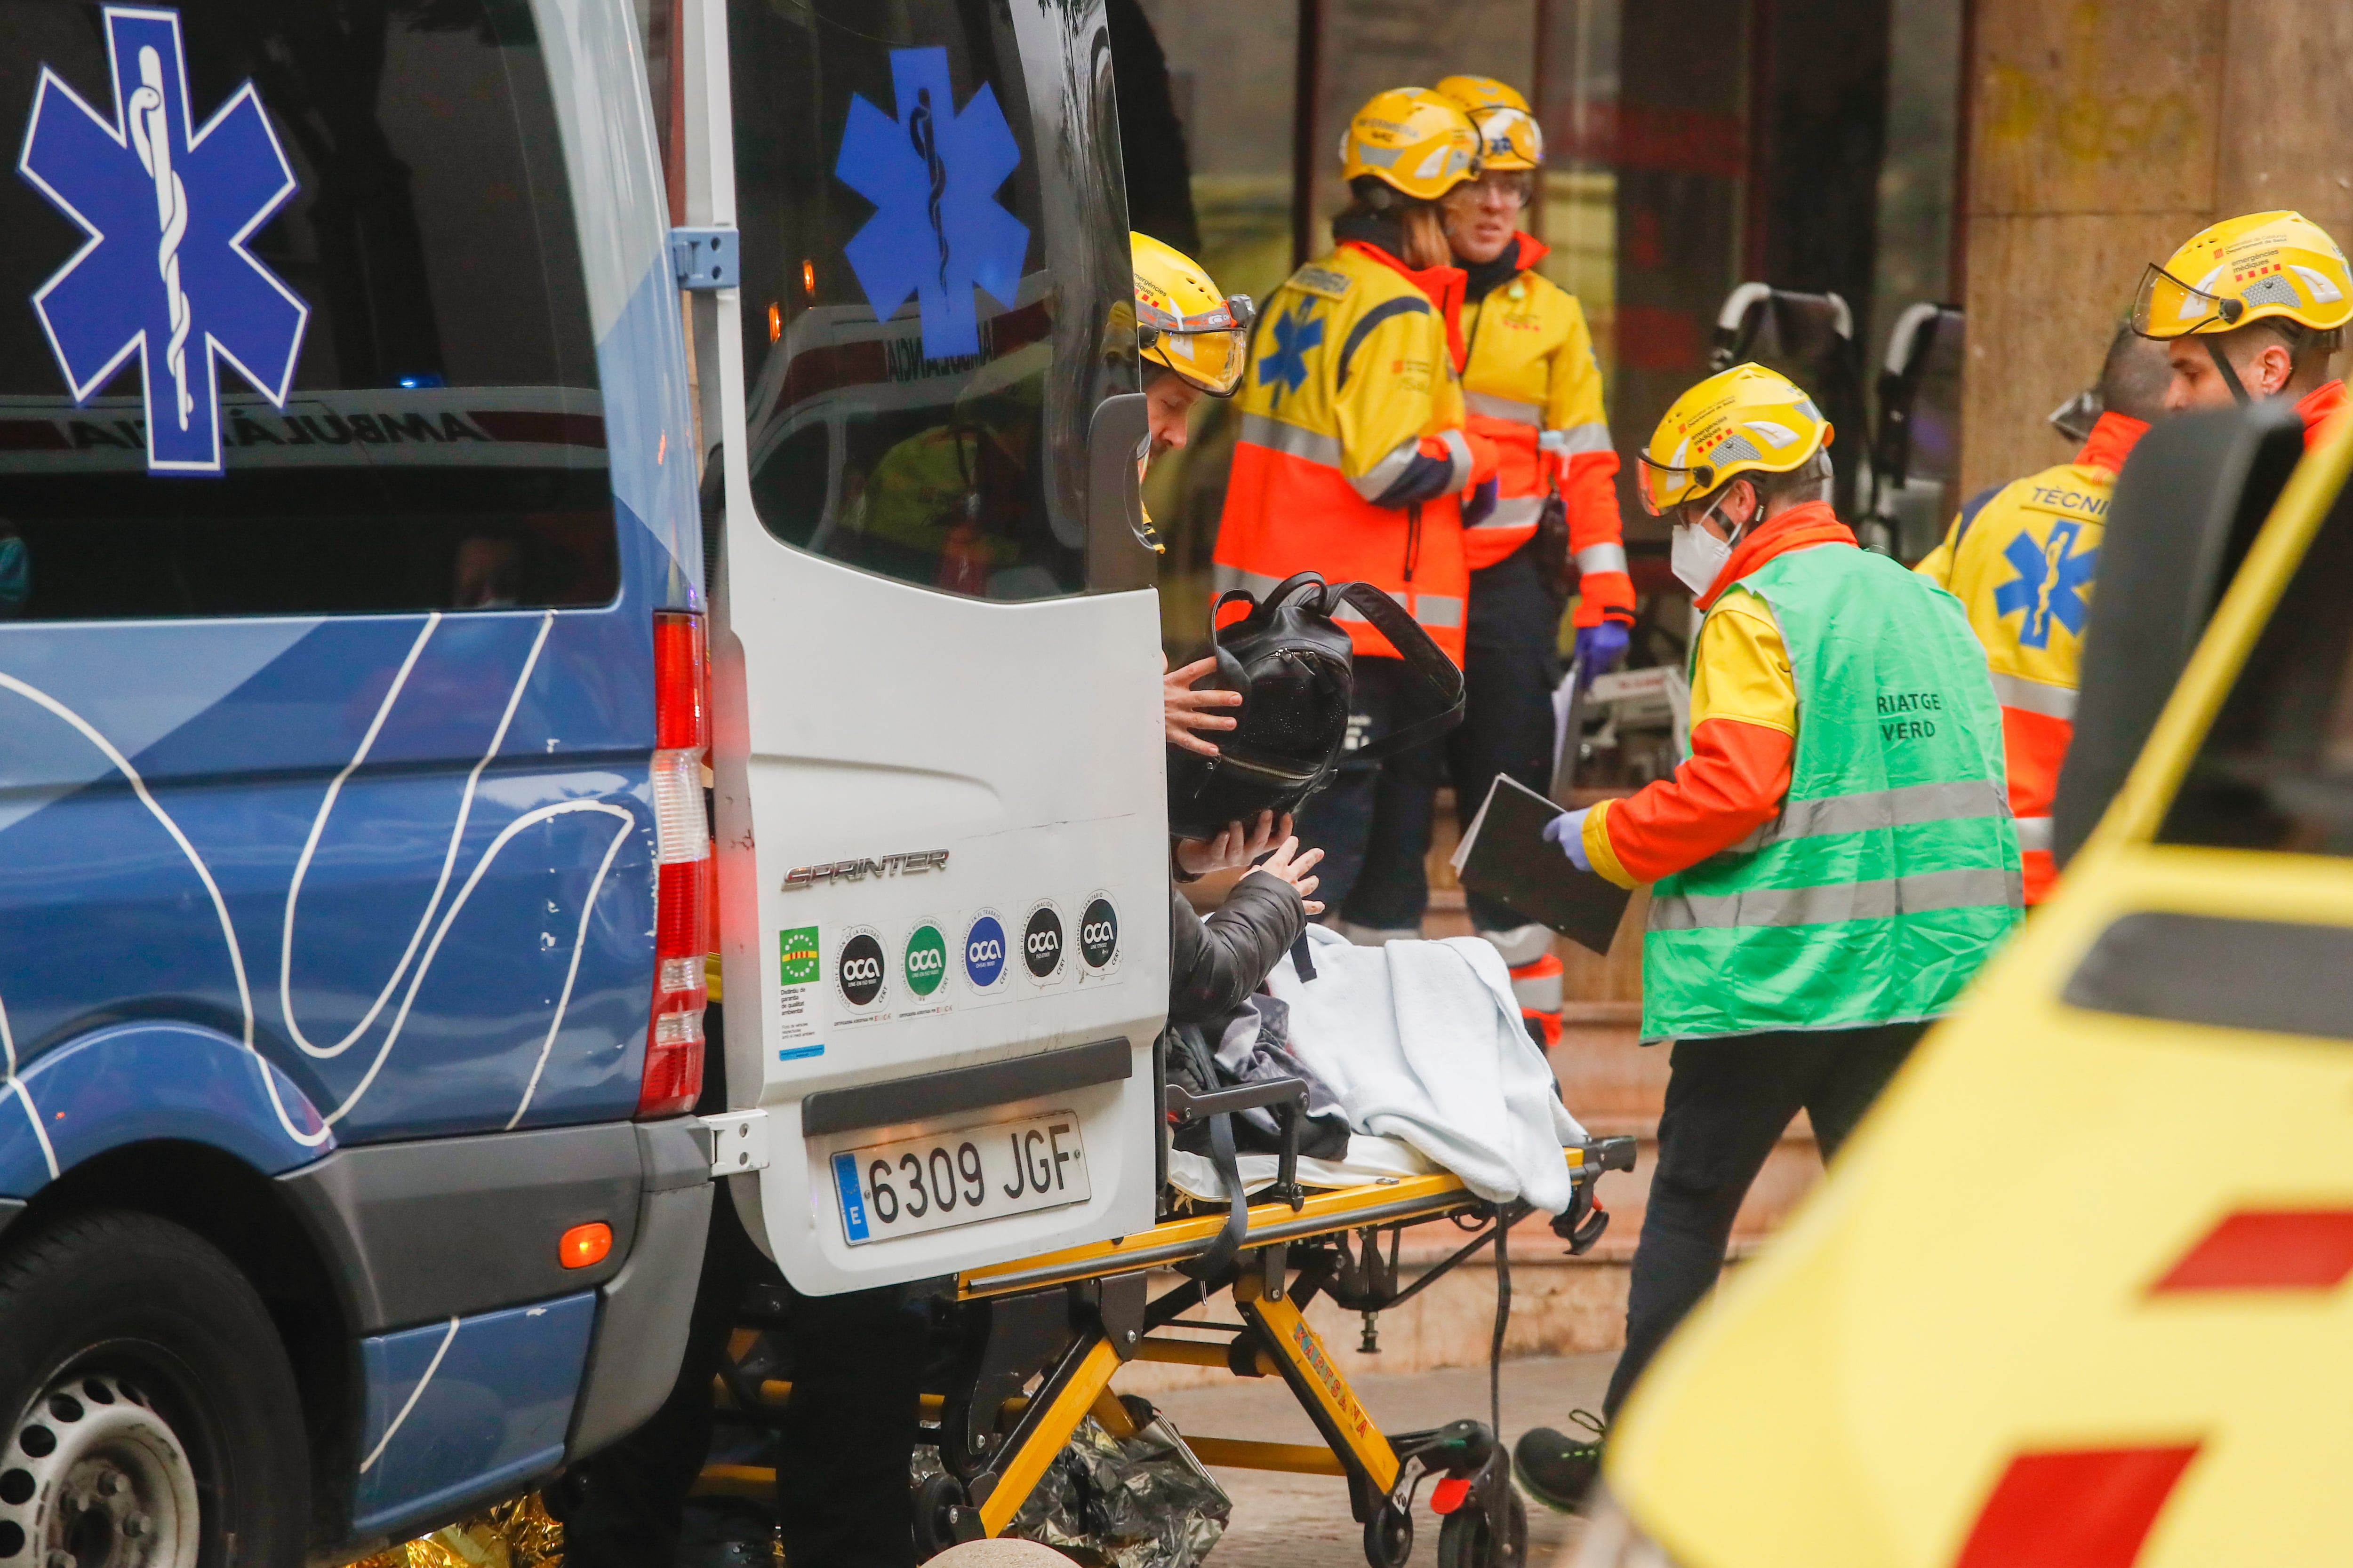
[[[195,1465],[125,1378],[59,1378],[0,1446],[9,1568],[195,1568],[198,1523]]]

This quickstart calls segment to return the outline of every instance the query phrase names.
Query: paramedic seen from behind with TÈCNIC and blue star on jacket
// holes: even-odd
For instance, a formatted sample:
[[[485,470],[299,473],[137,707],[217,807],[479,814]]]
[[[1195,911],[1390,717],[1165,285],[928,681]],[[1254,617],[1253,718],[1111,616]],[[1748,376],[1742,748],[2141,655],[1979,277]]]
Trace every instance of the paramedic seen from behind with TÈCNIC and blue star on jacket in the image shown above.
[[[2052,799],[2075,738],[2082,632],[2092,614],[2099,541],[2108,527],[2115,475],[2151,421],[2165,416],[2172,369],[2165,346],[2129,327],[2108,343],[2099,369],[2101,416],[2068,463],[1969,498],[1944,543],[1915,571],[1948,588],[1986,644],[1993,696],[2002,705],[2009,811],[2019,818],[2026,903],[2038,905],[2059,875],[2052,860]]]

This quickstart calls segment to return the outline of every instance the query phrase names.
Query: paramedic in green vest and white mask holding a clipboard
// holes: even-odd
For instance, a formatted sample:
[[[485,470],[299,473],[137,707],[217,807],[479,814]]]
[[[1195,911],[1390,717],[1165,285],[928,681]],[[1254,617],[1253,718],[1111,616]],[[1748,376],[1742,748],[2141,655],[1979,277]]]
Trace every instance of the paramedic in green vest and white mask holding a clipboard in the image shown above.
[[[1685,393],[1642,505],[1706,616],[1689,757],[1546,837],[1652,884],[1642,1039],[1675,1041],[1602,1418],[1725,1262],[1732,1215],[1798,1110],[1824,1159],[2019,922],[2002,717],[1960,599],[1857,548],[1824,498],[1831,425],[1739,364]],[[1572,1507],[1600,1458],[1529,1432],[1520,1476]]]

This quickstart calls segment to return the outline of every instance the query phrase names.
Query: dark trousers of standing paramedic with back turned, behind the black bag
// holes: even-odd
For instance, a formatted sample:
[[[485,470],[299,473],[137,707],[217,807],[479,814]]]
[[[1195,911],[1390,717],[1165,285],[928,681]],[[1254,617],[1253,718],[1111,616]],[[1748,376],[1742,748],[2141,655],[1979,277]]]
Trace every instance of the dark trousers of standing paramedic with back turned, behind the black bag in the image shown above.
[[[1402,658],[1358,658],[1351,736],[1379,741],[1428,712],[1424,686]],[[1431,809],[1442,741],[1381,762],[1341,759],[1337,778],[1299,813],[1299,842],[1322,849],[1318,898],[1365,926],[1419,926],[1428,903],[1421,858],[1431,851]]]

